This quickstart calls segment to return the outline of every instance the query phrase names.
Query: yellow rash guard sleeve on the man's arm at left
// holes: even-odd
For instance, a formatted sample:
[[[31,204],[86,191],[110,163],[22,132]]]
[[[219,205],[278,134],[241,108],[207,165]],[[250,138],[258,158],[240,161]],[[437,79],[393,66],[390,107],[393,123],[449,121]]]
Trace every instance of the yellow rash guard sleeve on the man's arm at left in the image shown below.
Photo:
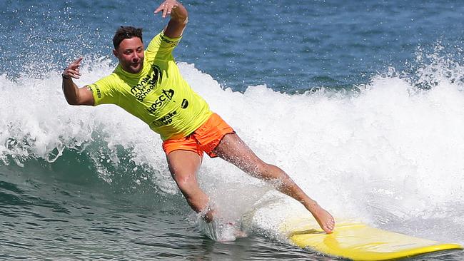
[[[116,84],[112,75],[101,78],[95,83],[89,84],[88,87],[94,96],[94,106],[100,104],[118,104],[119,95],[116,91]]]

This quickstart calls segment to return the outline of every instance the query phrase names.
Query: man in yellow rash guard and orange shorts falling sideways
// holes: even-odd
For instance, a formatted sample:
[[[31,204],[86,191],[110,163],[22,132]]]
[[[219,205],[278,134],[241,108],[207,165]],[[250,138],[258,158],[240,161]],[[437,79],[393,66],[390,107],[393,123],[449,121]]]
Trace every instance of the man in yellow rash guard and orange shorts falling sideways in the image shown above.
[[[81,76],[82,58],[69,64],[62,73],[66,101],[86,106],[116,104],[160,134],[173,179],[188,205],[201,213],[206,222],[213,221],[215,210],[196,179],[203,153],[272,182],[278,191],[303,204],[321,228],[331,233],[335,227],[331,214],[309,198],[283,170],[258,158],[183,80],[172,51],[181,40],[188,13],[176,0],[164,1],[154,12],[161,11],[163,18],[169,15],[171,19],[146,49],[142,29],[121,26],[116,31],[113,53],[119,63],[109,76],[79,88],[72,79]]]

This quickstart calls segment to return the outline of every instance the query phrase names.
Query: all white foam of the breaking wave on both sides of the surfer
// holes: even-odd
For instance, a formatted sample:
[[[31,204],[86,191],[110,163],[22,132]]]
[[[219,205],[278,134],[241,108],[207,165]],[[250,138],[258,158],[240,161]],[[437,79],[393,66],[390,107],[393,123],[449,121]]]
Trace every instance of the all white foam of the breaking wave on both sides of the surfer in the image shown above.
[[[77,81],[80,86],[112,70],[107,59],[86,64]],[[456,232],[464,228],[460,81],[436,73],[436,86],[418,91],[403,78],[377,76],[357,95],[331,91],[288,95],[266,86],[249,86],[238,93],[222,89],[193,64],[179,67],[192,88],[263,160],[286,170],[336,217],[384,227],[409,224],[410,230],[401,228],[464,241]],[[463,74],[461,68],[456,70]],[[101,177],[111,182],[114,173],[106,171],[105,163],[127,160],[118,158],[116,150],[121,147],[128,151],[128,160],[154,176],[161,190],[176,193],[158,135],[116,106],[67,105],[59,75],[51,71],[41,78],[21,76],[16,81],[0,77],[1,160],[53,161],[65,148],[82,150],[94,158]],[[223,215],[246,218],[248,230],[278,234],[286,215],[304,213],[271,186],[219,159],[205,158],[199,179]],[[449,226],[420,228],[437,218]]]

